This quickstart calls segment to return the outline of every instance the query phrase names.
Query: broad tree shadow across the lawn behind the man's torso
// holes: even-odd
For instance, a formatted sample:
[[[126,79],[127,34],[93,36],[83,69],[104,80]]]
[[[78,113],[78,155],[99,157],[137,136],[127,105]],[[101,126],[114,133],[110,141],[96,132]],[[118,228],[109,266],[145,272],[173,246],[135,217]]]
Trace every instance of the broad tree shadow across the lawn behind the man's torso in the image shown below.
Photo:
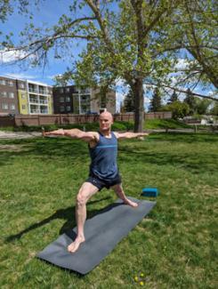
[[[151,134],[147,139],[150,142],[169,141],[173,142],[204,142],[214,143],[218,140],[216,135],[212,134],[189,134],[189,133],[158,133]],[[138,140],[128,140],[130,143],[134,143]],[[133,148],[129,146],[129,142],[123,142],[119,146],[118,160],[124,163],[144,163],[155,165],[175,165],[178,167],[184,167],[192,173],[202,172],[207,170],[208,172],[214,172],[215,165],[214,160],[216,155],[210,151],[207,154],[200,151],[184,151],[182,154],[177,153],[175,149],[166,152],[152,151],[151,146],[147,146],[146,140],[141,143],[140,148]],[[7,142],[10,143],[10,142]],[[11,140],[12,144],[22,144],[23,150],[20,151],[3,151],[0,154],[0,165],[8,165],[14,157],[30,157],[39,158],[42,164],[44,161],[52,159],[56,161],[58,158],[68,159],[69,162],[75,161],[84,162],[85,157],[88,159],[88,146],[84,141],[70,140],[65,138],[50,138],[50,139],[35,139],[35,140]],[[167,144],[164,144],[167,146]],[[149,151],[148,151],[149,149]]]

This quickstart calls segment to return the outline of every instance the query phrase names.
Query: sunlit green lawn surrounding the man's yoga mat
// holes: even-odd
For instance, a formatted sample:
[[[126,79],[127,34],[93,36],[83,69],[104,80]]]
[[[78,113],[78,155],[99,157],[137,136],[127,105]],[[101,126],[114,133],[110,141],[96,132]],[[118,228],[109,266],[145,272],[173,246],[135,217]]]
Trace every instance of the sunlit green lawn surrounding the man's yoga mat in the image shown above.
[[[0,287],[217,288],[218,136],[159,133],[119,143],[126,195],[157,187],[157,205],[85,277],[36,259],[76,225],[75,197],[88,174],[87,144],[69,139],[0,141]],[[91,218],[115,201],[102,190]],[[152,199],[152,198],[149,198]],[[115,224],[116,225],[116,224]]]

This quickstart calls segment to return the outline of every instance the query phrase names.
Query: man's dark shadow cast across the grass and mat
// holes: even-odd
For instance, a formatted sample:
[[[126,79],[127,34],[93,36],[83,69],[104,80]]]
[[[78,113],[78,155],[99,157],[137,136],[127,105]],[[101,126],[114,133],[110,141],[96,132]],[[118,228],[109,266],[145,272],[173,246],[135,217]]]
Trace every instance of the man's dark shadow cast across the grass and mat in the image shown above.
[[[104,197],[104,198],[101,198],[100,200],[90,201],[87,203],[87,207],[89,205],[93,205],[95,203],[99,203],[101,201],[108,200],[110,198],[111,197]],[[117,204],[117,205],[120,205],[120,204]],[[108,205],[106,208],[103,208],[100,210],[90,210],[90,211],[87,210],[87,219],[93,218],[93,216],[95,216],[96,214],[109,211],[114,206],[115,205],[113,203],[112,205]],[[16,241],[16,240],[20,239],[24,234],[27,234],[29,231],[31,231],[33,229],[37,229],[39,227],[42,227],[45,224],[49,223],[50,221],[53,221],[56,219],[66,220],[66,222],[63,224],[63,226],[60,229],[60,232],[59,232],[60,235],[63,233],[66,233],[69,230],[71,231],[77,225],[76,224],[76,217],[75,217],[75,206],[70,206],[66,209],[60,209],[60,210],[56,211],[50,217],[44,219],[43,221],[38,221],[35,224],[29,226],[27,229],[23,229],[22,231],[20,231],[19,233],[15,234],[15,235],[6,237],[5,242],[11,243],[13,241]]]

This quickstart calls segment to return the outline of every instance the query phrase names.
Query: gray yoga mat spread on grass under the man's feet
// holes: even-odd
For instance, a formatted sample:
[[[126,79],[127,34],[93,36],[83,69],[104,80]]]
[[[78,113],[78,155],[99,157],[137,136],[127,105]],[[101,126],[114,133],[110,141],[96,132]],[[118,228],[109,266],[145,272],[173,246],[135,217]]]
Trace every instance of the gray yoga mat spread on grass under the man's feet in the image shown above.
[[[118,199],[101,213],[85,221],[85,243],[79,246],[76,253],[69,253],[67,250],[68,245],[77,237],[77,229],[74,228],[47,245],[37,257],[85,275],[97,266],[156,204],[128,198],[137,202],[138,207],[124,205],[123,201]]]

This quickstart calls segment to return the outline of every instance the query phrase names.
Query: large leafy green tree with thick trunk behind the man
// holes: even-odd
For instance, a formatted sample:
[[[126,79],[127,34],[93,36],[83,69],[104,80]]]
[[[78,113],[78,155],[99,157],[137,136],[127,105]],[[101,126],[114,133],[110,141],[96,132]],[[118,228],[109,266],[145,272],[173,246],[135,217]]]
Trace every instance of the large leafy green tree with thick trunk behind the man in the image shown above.
[[[20,2],[24,5],[26,3],[25,7],[28,7],[28,1]],[[197,2],[209,5],[214,1]],[[124,79],[133,92],[134,131],[141,132],[144,113],[143,84],[182,91],[180,85],[174,86],[169,79],[169,73],[175,71],[178,52],[182,49],[189,51],[193,47],[202,49],[201,44],[189,44],[182,36],[182,25],[187,30],[187,36],[192,25],[196,25],[194,18],[190,18],[193,7],[191,1],[185,0],[72,0],[68,15],[62,15],[54,26],[35,28],[33,23],[29,23],[21,32],[21,41],[16,49],[25,52],[22,59],[28,59],[31,55],[29,60],[32,64],[45,65],[51,50],[54,51],[54,57],[61,58],[70,55],[72,41],[85,40],[86,48],[80,53],[80,59],[70,60],[72,65],[62,79],[73,80],[79,85],[104,87],[113,86],[118,78]],[[209,9],[211,8],[208,7],[207,10]],[[182,13],[185,13],[185,20]],[[208,28],[208,13],[204,13],[202,19],[201,11],[195,13],[198,21],[206,23],[205,27]],[[212,24],[214,26],[214,21]],[[198,28],[198,33],[200,31]],[[210,35],[209,32],[213,33],[213,30],[206,30],[207,40],[211,37],[214,39],[214,34]],[[2,47],[14,50],[14,45],[8,38],[2,42]],[[207,44],[206,49],[208,47]],[[202,59],[205,54],[202,52],[200,55]],[[207,54],[206,59],[209,59]],[[200,63],[197,57],[196,60]],[[201,67],[203,68],[202,65]],[[185,76],[186,81],[189,77],[192,79],[196,69],[196,63],[191,63],[189,74]],[[203,72],[206,76],[209,74],[208,69],[204,68]],[[207,78],[210,79],[209,76]]]

